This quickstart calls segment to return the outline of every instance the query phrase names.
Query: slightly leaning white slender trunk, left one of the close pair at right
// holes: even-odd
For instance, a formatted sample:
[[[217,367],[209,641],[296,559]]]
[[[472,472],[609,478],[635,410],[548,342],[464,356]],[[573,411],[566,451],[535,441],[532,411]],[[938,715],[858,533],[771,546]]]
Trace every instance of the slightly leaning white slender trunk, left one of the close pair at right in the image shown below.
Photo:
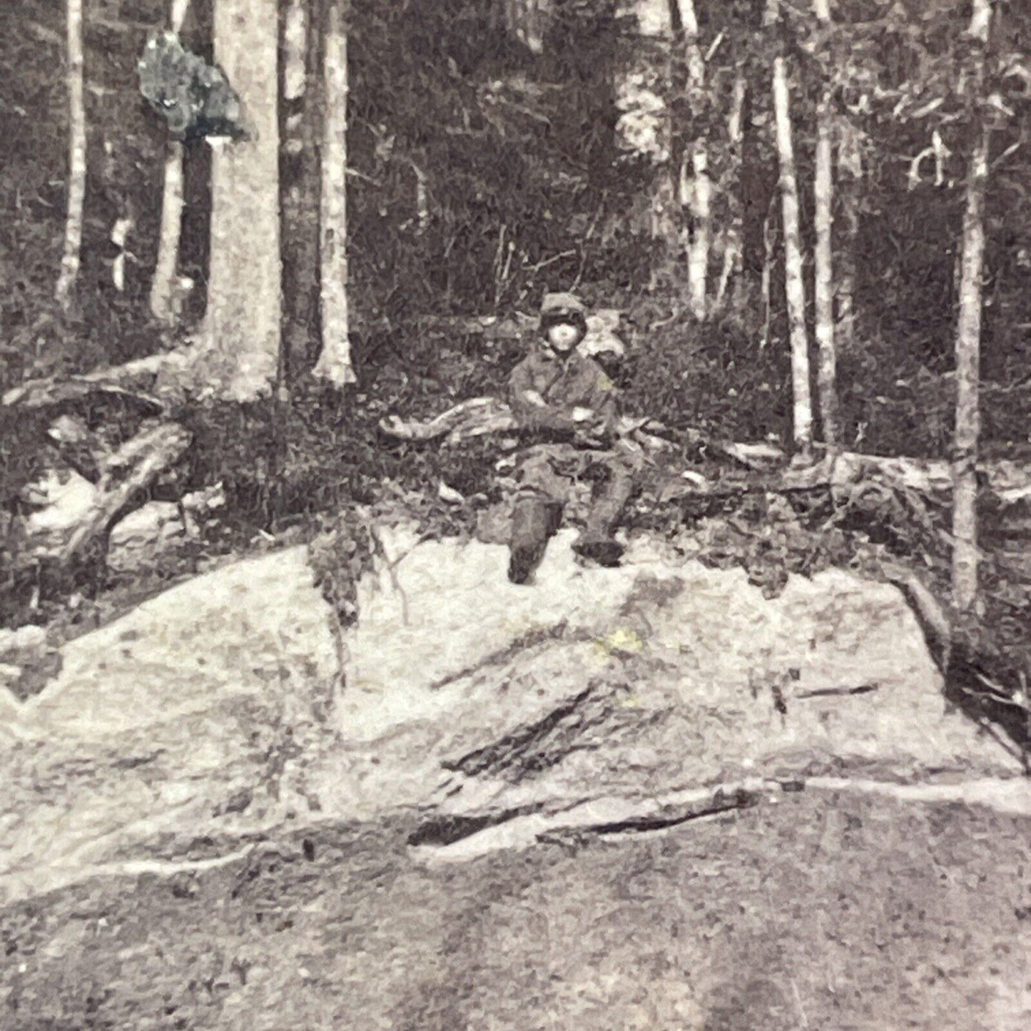
[[[777,33],[777,0],[767,0],[767,31]],[[791,91],[788,62],[776,41],[773,59],[773,118],[777,163],[780,171],[780,199],[784,221],[785,285],[791,339],[791,377],[794,391],[793,437],[796,453],[804,458],[812,450],[812,399],[809,387],[809,341],[805,328],[805,279],[799,232],[798,176],[791,130]]]

